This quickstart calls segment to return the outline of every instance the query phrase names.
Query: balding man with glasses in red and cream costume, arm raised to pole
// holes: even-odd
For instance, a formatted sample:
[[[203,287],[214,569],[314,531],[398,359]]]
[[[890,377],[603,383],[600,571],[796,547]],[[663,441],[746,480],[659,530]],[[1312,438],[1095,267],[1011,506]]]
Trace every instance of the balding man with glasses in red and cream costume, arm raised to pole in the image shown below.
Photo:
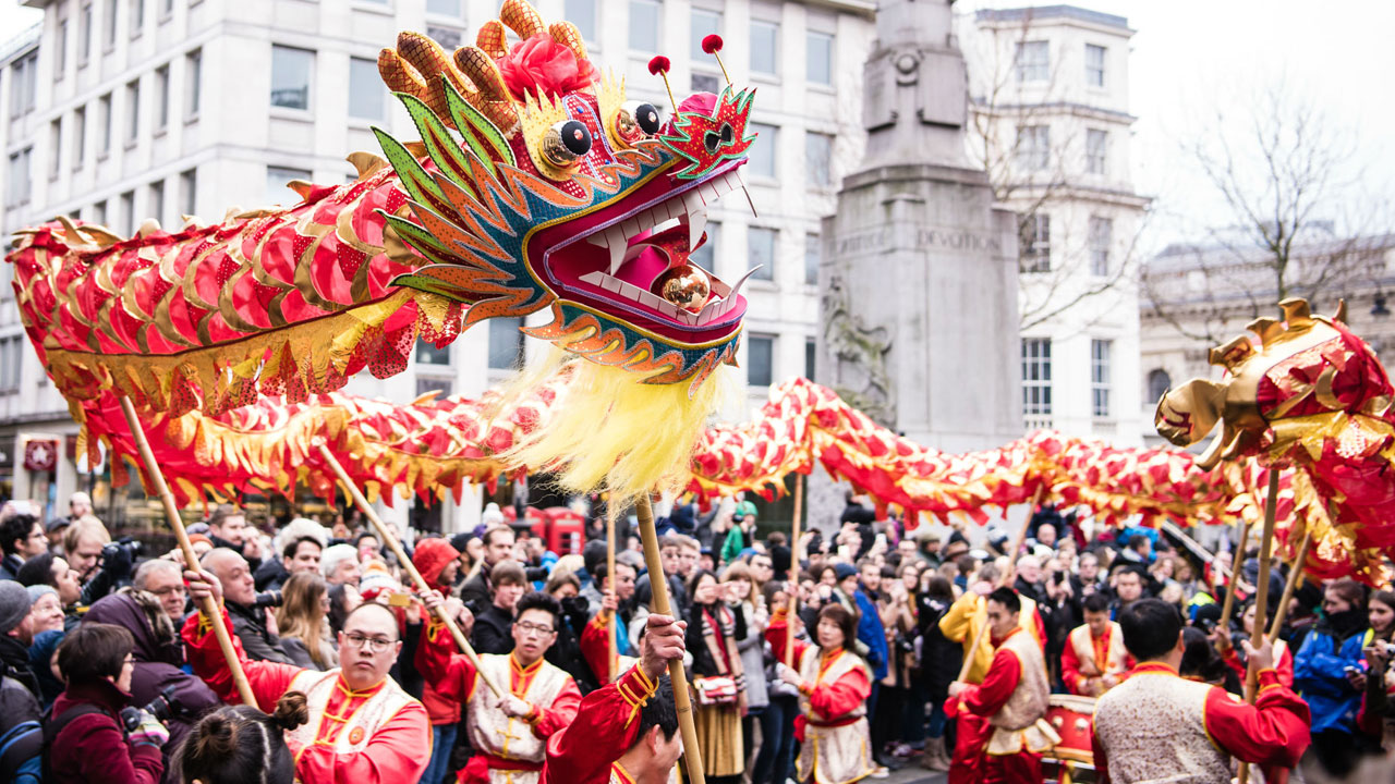
[[[218,578],[184,572],[195,603],[205,596],[223,598]],[[227,614],[218,622],[233,626]],[[213,619],[201,612],[184,622],[188,663],[223,700],[240,704],[213,632]],[[416,781],[431,759],[431,721],[421,703],[388,677],[402,640],[398,618],[382,604],[367,603],[349,614],[339,632],[340,670],[318,672],[292,664],[251,661],[233,636],[233,646],[251,682],[257,707],[276,710],[286,692],[303,692],[310,721],[286,731],[286,745],[296,757],[296,780],[304,784],[388,784]]]

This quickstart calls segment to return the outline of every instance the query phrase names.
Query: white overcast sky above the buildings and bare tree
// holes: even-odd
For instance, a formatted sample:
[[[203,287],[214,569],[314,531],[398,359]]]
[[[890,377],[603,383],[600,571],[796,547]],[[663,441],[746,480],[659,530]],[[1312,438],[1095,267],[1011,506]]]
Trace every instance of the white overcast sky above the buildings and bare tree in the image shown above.
[[[1052,3],[1028,3],[1052,4]],[[1138,117],[1134,183],[1155,197],[1145,246],[1233,223],[1183,151],[1218,110],[1243,119],[1256,91],[1283,84],[1356,145],[1346,199],[1363,205],[1363,230],[1395,227],[1395,3],[1362,0],[1091,0],[1078,6],[1127,17],[1137,31],[1130,57],[1130,109]],[[1017,3],[960,0],[956,13]],[[0,42],[40,18],[0,0]],[[1332,199],[1331,218],[1349,215]],[[1374,220],[1371,213],[1378,215]]]

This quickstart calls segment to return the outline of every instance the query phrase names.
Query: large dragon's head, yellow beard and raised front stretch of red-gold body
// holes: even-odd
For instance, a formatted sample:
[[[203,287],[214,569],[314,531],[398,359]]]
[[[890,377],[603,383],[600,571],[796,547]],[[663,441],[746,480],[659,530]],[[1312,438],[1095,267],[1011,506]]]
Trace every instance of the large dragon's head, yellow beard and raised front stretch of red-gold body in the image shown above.
[[[402,33],[378,68],[420,141],[375,128],[384,155],[352,155],[353,183],[290,183],[299,204],[177,232],[60,218],[18,234],[24,325],[75,419],[103,395],[167,416],[294,403],[400,372],[417,339],[545,310],[525,332],[562,349],[543,375],[578,365],[576,421],[519,460],[629,495],[675,481],[741,339],[741,283],[689,257],[709,205],[742,187],[753,92],[665,117],[525,0],[453,56]]]

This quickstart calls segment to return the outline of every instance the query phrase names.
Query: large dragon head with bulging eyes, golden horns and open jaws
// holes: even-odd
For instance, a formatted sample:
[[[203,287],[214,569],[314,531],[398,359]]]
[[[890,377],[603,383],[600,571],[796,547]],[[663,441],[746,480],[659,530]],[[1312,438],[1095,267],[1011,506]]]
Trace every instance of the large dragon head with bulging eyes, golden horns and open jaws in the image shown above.
[[[378,67],[421,133],[416,146],[377,131],[410,195],[386,216],[396,252],[427,259],[396,285],[469,304],[466,325],[550,308],[529,335],[650,384],[734,364],[745,278],[691,257],[709,206],[742,187],[751,91],[689,96],[665,120],[525,0],[453,57],[403,33]]]

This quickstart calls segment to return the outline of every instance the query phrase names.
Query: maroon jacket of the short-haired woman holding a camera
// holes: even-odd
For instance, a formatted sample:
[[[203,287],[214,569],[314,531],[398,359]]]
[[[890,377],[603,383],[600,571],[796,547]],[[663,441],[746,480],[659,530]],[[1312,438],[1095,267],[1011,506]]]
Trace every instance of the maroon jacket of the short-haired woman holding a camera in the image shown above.
[[[117,717],[131,696],[110,681],[68,684],[53,703],[53,717],[70,707],[91,703],[102,713],[85,713],[68,723],[53,739],[53,780],[86,784],[156,784],[165,773],[160,749],[151,744],[131,745]]]

